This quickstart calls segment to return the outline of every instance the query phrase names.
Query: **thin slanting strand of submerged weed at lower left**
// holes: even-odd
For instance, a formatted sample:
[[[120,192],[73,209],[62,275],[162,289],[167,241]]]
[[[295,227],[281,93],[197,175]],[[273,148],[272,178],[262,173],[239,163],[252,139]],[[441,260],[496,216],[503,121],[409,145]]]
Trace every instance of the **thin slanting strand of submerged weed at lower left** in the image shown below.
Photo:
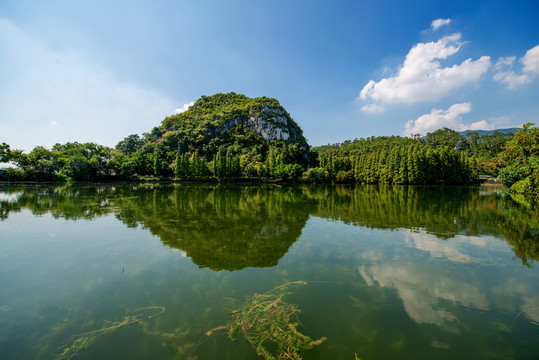
[[[56,359],[69,360],[78,355],[82,349],[86,349],[97,337],[110,333],[129,324],[138,323],[144,319],[151,319],[154,316],[162,314],[164,311],[164,306],[148,306],[136,309],[133,311],[133,313],[136,314],[128,315],[122,321],[115,322],[111,326],[106,326],[98,330],[76,335],[72,337],[72,340],[67,345],[63,345],[59,348],[63,350],[62,353],[56,357]]]

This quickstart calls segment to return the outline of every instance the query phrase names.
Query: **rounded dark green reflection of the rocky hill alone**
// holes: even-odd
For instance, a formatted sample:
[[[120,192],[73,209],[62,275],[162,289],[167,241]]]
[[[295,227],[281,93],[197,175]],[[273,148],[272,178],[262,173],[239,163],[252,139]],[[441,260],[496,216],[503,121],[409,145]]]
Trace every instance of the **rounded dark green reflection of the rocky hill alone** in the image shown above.
[[[301,196],[293,188],[167,187],[122,201],[117,217],[141,224],[199,266],[267,267],[301,235],[309,217]]]

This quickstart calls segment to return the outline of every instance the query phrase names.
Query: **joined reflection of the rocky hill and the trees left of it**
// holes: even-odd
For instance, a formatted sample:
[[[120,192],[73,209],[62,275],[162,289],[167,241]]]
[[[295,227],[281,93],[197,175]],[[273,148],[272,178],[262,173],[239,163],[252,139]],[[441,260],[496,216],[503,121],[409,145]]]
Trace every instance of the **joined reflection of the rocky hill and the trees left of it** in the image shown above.
[[[238,186],[73,186],[4,189],[0,213],[29,209],[65,219],[114,214],[213,270],[277,264],[309,218],[300,188]]]

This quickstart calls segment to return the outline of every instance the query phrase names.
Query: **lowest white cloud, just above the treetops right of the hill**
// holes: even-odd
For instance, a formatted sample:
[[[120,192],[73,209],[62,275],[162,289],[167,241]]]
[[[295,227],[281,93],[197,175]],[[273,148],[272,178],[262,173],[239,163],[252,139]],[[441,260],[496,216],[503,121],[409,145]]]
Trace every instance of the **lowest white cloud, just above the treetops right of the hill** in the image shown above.
[[[456,131],[464,130],[492,130],[494,127],[486,120],[464,124],[462,115],[472,111],[472,104],[461,103],[451,105],[447,110],[432,109],[429,114],[424,114],[416,120],[406,123],[406,135],[426,134],[442,127],[447,127]]]

